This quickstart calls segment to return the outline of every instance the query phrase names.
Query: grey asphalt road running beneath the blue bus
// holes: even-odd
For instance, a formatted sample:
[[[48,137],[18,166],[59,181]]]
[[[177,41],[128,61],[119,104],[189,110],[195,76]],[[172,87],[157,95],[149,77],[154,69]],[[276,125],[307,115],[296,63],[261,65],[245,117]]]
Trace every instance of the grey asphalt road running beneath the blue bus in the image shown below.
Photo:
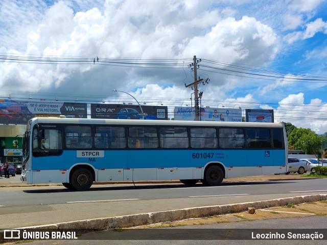
[[[327,179],[224,183],[94,185],[87,192],[62,186],[1,189],[1,228],[27,227],[187,207],[326,194]]]

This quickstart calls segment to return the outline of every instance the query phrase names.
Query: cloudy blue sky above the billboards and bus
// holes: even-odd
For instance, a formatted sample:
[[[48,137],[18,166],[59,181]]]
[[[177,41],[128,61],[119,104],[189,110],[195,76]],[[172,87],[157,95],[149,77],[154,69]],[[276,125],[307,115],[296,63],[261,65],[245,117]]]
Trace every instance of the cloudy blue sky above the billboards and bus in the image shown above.
[[[0,16],[0,98],[133,102],[116,89],[172,110],[196,56],[203,106],[327,132],[327,1],[1,0]]]

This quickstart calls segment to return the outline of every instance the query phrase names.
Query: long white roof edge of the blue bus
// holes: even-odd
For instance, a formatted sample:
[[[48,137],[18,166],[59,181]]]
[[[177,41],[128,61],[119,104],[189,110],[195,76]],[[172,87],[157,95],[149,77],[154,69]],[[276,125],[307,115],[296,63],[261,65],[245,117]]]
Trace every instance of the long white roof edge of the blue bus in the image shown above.
[[[274,127],[282,128],[283,123],[262,122],[207,122],[207,121],[176,121],[176,120],[133,120],[133,119],[87,119],[87,118],[54,118],[41,117],[31,119],[31,123],[59,124],[103,124],[103,125],[161,125],[161,126],[213,126],[213,127]]]

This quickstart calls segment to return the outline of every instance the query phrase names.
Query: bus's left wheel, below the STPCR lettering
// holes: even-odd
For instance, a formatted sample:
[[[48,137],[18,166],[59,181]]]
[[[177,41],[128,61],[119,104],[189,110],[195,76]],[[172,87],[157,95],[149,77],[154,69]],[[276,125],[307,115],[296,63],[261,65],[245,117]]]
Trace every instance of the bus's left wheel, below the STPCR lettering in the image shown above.
[[[77,169],[72,174],[71,183],[78,191],[87,190],[93,183],[93,176],[88,169]]]

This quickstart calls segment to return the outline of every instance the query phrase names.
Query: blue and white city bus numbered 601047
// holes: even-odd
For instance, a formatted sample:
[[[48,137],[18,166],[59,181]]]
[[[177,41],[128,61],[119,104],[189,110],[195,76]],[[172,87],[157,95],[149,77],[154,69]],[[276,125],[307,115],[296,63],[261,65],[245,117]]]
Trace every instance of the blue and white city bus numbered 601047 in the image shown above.
[[[33,118],[21,180],[86,190],[103,181],[199,180],[287,173],[282,123]]]

